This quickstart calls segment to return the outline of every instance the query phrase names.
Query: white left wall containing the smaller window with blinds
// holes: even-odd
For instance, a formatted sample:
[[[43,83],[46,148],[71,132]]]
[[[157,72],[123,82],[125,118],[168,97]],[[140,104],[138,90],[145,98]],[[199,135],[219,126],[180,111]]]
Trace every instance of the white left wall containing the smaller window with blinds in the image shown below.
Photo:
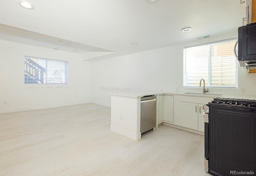
[[[24,56],[68,61],[68,84],[24,84]],[[91,102],[91,63],[80,54],[0,40],[0,60],[0,113]]]

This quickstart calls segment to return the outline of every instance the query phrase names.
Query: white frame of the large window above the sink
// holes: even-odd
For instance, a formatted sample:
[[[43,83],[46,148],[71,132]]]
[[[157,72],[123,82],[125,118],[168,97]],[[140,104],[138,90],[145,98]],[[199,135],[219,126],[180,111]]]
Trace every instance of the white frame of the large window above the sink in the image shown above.
[[[204,44],[198,44],[198,45],[193,45],[193,46],[187,46],[187,47],[184,47],[183,48],[183,79],[182,79],[182,85],[183,87],[187,87],[187,88],[199,88],[199,82],[200,82],[200,79],[198,81],[198,86],[193,86],[193,85],[188,85],[188,84],[185,84],[187,82],[187,80],[185,80],[184,76],[186,75],[186,68],[187,68],[187,62],[185,61],[186,59],[186,49],[188,48],[193,48],[193,47],[198,47],[198,46],[217,46],[218,44],[221,44],[221,43],[224,43],[224,42],[234,42],[234,40],[237,40],[237,38],[230,38],[230,39],[226,39],[226,40],[218,40],[218,41],[214,41],[214,42],[208,42],[208,43],[204,43]],[[209,52],[211,52],[210,50],[210,47],[208,49]],[[237,52],[237,48],[236,48],[236,52]],[[210,56],[211,54],[208,55],[208,58],[210,57],[210,59],[208,60],[208,62],[210,63],[211,62],[211,59],[212,57]],[[212,85],[211,84],[211,79],[212,79],[212,75],[211,75],[211,71],[212,71],[212,64],[209,64],[208,65],[208,80],[209,80],[209,83],[207,85],[205,85],[206,87],[209,87],[209,88],[238,88],[238,62],[237,62],[237,59],[235,58],[234,56],[234,59],[236,60],[235,62],[235,85],[234,86],[230,86],[230,85]]]

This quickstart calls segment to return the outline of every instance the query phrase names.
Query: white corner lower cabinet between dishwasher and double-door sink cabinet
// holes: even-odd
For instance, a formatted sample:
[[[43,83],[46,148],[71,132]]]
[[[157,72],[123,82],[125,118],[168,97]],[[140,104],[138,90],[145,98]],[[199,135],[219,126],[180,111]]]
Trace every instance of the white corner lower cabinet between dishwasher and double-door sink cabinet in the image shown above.
[[[159,99],[158,122],[173,123],[173,96],[160,95]]]

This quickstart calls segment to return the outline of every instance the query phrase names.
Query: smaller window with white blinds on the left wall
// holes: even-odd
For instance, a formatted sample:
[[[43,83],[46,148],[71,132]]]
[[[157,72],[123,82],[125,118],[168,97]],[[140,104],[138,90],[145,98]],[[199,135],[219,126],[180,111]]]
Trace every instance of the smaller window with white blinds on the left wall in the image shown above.
[[[24,58],[25,84],[68,84],[68,61]]]

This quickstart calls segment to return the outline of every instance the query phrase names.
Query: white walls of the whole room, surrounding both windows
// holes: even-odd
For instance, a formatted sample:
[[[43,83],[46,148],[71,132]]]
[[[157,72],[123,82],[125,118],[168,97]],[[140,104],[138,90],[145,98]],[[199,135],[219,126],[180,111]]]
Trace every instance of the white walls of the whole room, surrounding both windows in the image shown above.
[[[183,88],[183,48],[228,38],[226,34],[185,44],[119,56],[96,62],[80,54],[0,40],[0,113],[93,102],[110,106],[108,92],[115,90],[166,90],[202,92]],[[24,56],[69,61],[69,84],[24,84]],[[198,82],[199,84],[199,82]],[[238,68],[238,89],[209,88],[209,93],[256,95],[256,74]]]

